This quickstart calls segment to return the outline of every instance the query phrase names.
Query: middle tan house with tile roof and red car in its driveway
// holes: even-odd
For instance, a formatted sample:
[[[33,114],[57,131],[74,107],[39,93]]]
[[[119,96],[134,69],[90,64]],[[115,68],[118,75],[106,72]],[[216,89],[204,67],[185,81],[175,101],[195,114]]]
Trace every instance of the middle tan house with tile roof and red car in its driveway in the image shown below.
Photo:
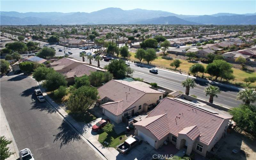
[[[122,80],[111,80],[98,88],[104,115],[116,123],[127,122],[137,112],[147,112],[164,94],[146,86]]]

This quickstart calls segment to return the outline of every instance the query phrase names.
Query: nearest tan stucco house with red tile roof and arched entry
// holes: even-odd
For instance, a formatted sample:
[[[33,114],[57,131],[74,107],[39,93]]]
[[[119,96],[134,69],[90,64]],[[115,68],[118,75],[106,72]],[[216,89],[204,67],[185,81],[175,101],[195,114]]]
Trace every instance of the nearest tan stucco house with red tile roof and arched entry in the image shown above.
[[[166,97],[145,119],[133,125],[135,135],[156,149],[169,140],[177,149],[187,148],[187,155],[193,150],[206,156],[226,134],[231,118]]]

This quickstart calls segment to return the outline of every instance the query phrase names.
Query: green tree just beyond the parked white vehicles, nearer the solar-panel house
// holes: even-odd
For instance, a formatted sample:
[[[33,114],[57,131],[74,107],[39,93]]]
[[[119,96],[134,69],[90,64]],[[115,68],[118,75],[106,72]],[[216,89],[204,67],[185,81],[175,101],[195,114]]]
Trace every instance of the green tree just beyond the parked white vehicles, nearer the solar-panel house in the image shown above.
[[[47,74],[50,72],[54,72],[53,68],[38,67],[33,72],[33,78],[35,78],[37,82],[41,82],[46,79]]]

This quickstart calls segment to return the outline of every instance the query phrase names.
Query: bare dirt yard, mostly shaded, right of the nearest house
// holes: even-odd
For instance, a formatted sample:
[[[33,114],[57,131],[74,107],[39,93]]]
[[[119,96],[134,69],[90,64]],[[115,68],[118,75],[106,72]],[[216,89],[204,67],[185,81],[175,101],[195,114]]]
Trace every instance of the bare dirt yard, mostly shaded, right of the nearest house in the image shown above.
[[[236,149],[238,153],[232,153],[233,149]],[[255,137],[246,132],[232,131],[231,134],[228,133],[216,155],[225,160],[255,160]]]

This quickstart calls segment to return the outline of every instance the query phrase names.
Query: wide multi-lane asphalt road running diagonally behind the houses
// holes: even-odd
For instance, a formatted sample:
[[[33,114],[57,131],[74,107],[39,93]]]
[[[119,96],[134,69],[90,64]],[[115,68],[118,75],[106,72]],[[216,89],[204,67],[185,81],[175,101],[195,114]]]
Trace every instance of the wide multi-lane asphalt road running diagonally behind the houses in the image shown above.
[[[73,57],[77,60],[82,60],[81,57],[79,57],[79,52],[81,52],[81,49],[71,49],[73,52],[70,57]],[[86,50],[87,52],[88,50]],[[61,53],[56,52],[56,55],[61,55]],[[89,62],[85,58],[86,62]],[[100,66],[104,67],[109,62],[106,62],[104,60],[100,61]],[[92,60],[92,64],[97,65],[97,61]],[[158,85],[175,90],[175,91],[182,91],[185,92],[185,88],[181,86],[181,81],[185,80],[186,76],[177,75],[170,72],[165,71],[158,71],[158,74],[149,73],[150,68],[146,67],[140,67],[135,64],[130,63],[130,67],[134,69],[133,77],[140,77],[144,78],[145,81],[148,82],[156,82]],[[199,80],[196,80],[196,87],[194,89],[190,89],[190,95],[196,95],[198,98],[209,100],[209,96],[205,96],[204,89],[205,87],[209,86],[210,84],[201,82]],[[234,89],[228,89],[224,87],[220,87],[221,93],[218,94],[218,98],[214,97],[214,103],[218,103],[224,106],[229,106],[231,108],[238,107],[239,104],[242,103],[241,100],[236,100],[236,95],[239,92],[238,90]]]

